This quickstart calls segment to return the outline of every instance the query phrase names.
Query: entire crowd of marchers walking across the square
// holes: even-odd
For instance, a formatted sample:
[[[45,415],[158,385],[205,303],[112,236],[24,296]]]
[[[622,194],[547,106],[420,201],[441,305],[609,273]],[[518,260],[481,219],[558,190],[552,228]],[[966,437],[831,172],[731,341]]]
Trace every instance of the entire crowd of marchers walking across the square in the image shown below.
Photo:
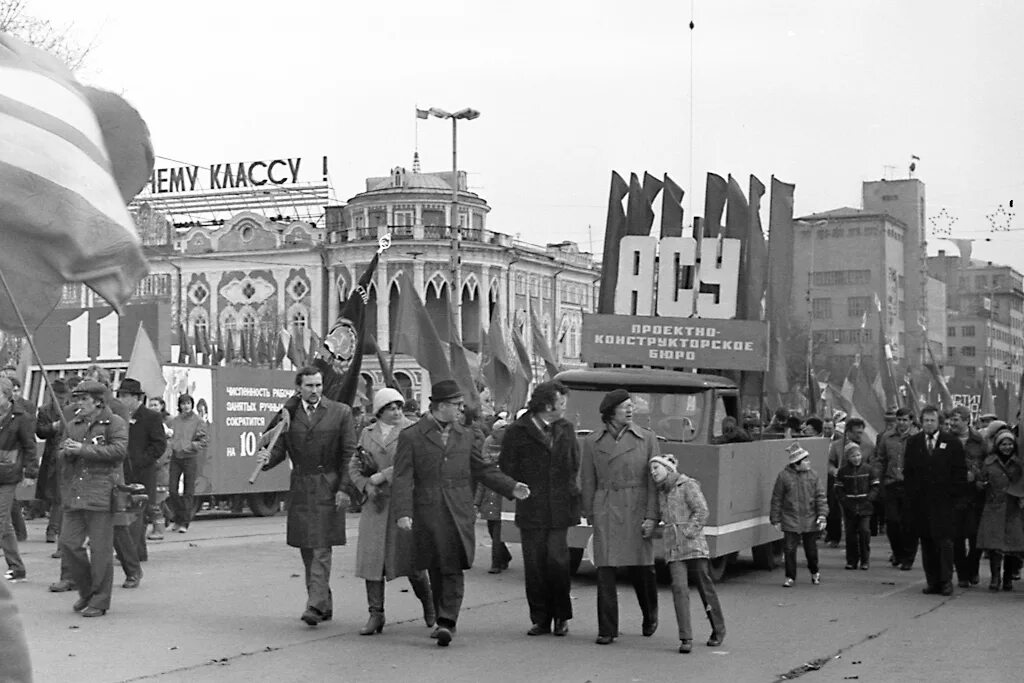
[[[189,396],[180,397],[178,415],[168,419],[160,399],[145,405],[135,380],[123,380],[115,394],[106,379],[102,369],[94,368],[81,380],[56,381],[57,402],[33,415],[14,384],[0,378],[0,545],[6,578],[26,577],[11,520],[14,487],[38,477],[37,496],[49,504],[47,541],[59,541],[54,556],[61,560],[60,580],[50,590],[76,590],[73,609],[83,616],[101,616],[110,608],[115,555],[126,574],[124,587],[139,586],[146,540],[164,531],[160,490],[168,486],[158,486],[162,463],[169,469],[172,530],[186,531],[196,454],[207,442],[205,423]],[[593,527],[598,644],[611,644],[620,635],[620,569],[635,589],[641,633],[655,633],[652,541],[658,525],[672,577],[679,651],[692,650],[689,582],[710,622],[708,645],[723,642],[726,628],[711,578],[703,535],[708,505],[700,483],[680,471],[673,456],[660,453],[652,432],[634,422],[629,390],[609,391],[599,408],[602,427],[578,440],[564,418],[568,390],[558,382],[537,385],[514,419],[500,415],[492,425],[465,409],[451,380],[433,385],[422,416],[409,411],[398,391],[380,389],[365,426],[349,407],[323,396],[323,386],[319,369],[298,372],[296,394],[283,409],[289,415],[285,437],[257,454],[263,469],[291,461],[287,543],[299,549],[305,566],[307,601],[300,618],[307,625],[333,618],[332,548],[345,544],[351,493],[361,505],[355,563],[369,610],[359,633],[383,632],[386,582],[406,577],[426,625],[433,627],[431,637],[447,646],[457,633],[463,573],[473,564],[477,514],[488,520],[493,539],[489,570],[508,567],[511,554],[500,535],[504,497],[516,500],[531,623],[527,635],[568,633],[567,531],[583,517]],[[943,414],[929,407],[916,416],[907,410],[887,416],[887,429],[872,443],[863,421],[845,417],[777,421],[785,436],[830,440],[824,482],[799,439],[775,481],[770,521],[783,533],[783,586],[796,583],[801,546],[811,583],[820,583],[817,543],[822,535],[837,547],[845,532],[846,568],[868,569],[873,528],[885,530],[889,561],[902,570],[912,568],[920,546],[925,593],[950,595],[954,571],[961,587],[978,584],[983,554],[989,561],[989,589],[1013,590],[1024,554],[1024,479],[1016,428],[995,416],[983,416],[972,426],[966,408]],[[727,418],[722,427],[723,442],[750,439],[735,420]],[[39,468],[37,434],[46,440]],[[178,495],[179,477],[187,495]],[[131,489],[124,482],[139,486]],[[127,501],[112,507],[112,498],[121,500],[116,494],[125,490]],[[147,496],[138,497],[143,492]],[[131,496],[144,504],[133,509]],[[6,597],[0,595],[0,611],[7,608]],[[16,647],[17,639],[11,638],[8,646]]]

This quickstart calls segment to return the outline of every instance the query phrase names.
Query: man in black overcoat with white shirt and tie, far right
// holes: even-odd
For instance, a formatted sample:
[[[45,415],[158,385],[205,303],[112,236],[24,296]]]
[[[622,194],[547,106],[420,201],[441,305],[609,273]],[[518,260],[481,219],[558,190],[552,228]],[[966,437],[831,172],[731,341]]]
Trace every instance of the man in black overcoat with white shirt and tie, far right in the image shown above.
[[[952,595],[953,507],[967,487],[964,446],[956,436],[939,431],[938,409],[923,409],[921,425],[903,455],[908,518],[921,539],[928,581],[924,593]]]

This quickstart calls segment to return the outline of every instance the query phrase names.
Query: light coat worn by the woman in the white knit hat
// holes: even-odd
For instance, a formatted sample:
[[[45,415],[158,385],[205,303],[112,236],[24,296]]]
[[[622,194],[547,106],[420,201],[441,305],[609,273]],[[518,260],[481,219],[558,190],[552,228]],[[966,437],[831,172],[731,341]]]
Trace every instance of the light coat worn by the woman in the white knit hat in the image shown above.
[[[355,548],[355,575],[369,581],[408,577],[413,569],[413,537],[395,526],[391,514],[391,480],[394,475],[394,454],[398,447],[398,434],[414,424],[402,417],[401,422],[384,435],[380,421],[362,429],[359,445],[377,463],[377,471],[384,475],[384,483],[374,486],[370,477],[359,472],[359,459],[348,461],[348,476],[359,492],[367,494],[367,503],[359,513],[359,541]]]

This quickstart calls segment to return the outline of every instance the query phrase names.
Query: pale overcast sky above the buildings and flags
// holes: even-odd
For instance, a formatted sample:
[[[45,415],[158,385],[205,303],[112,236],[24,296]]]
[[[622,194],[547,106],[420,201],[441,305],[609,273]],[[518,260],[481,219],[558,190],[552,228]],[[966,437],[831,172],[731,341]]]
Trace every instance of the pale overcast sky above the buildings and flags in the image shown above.
[[[489,203],[489,226],[599,251],[611,170],[669,173],[687,190],[687,216],[702,213],[708,171],[743,187],[750,173],[765,184],[774,174],[796,183],[799,215],[859,207],[862,180],[906,177],[916,155],[928,215],[945,209],[954,236],[991,240],[976,257],[1024,270],[1024,232],[988,233],[986,219],[1024,186],[1021,2],[35,0],[31,9],[95,41],[82,80],[135,104],[161,157],[209,166],[326,155],[346,200],[366,177],[411,167],[416,105],[472,106],[481,116],[460,124],[459,166]],[[419,122],[419,150],[425,171],[450,169],[447,122]],[[1012,226],[1024,230],[1024,216]],[[933,237],[937,249],[954,248]]]

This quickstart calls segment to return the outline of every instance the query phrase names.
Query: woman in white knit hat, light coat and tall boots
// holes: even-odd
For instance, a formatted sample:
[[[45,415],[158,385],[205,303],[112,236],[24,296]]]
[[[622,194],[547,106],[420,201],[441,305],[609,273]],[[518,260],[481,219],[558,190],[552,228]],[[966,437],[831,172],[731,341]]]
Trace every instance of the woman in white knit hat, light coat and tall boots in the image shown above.
[[[377,422],[364,428],[358,447],[370,455],[376,472],[364,471],[361,458],[348,461],[353,485],[367,496],[359,515],[359,540],[355,548],[355,575],[367,582],[370,621],[360,635],[384,630],[384,580],[409,577],[413,592],[423,604],[423,620],[434,625],[434,600],[426,571],[413,565],[413,540],[401,533],[391,515],[391,477],[398,432],[414,424],[402,414],[401,394],[385,388],[374,394],[373,410]]]

